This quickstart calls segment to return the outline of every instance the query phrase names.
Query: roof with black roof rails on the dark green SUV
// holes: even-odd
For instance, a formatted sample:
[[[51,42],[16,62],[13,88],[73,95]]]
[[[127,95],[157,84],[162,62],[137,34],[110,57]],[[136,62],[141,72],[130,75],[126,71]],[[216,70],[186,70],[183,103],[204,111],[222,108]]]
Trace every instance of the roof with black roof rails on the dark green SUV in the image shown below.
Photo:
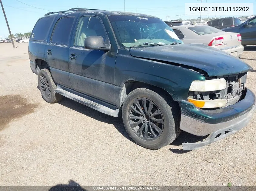
[[[71,8],[66,11],[57,11],[57,12],[49,12],[45,14],[45,16],[51,15],[51,14],[77,14],[77,13],[101,13],[105,15],[135,15],[135,16],[141,16],[141,17],[153,17],[157,18],[152,15],[147,15],[147,14],[140,14],[140,13],[132,13],[132,12],[122,12],[122,11],[105,11],[105,10],[98,10],[98,9],[88,9],[88,8]]]

